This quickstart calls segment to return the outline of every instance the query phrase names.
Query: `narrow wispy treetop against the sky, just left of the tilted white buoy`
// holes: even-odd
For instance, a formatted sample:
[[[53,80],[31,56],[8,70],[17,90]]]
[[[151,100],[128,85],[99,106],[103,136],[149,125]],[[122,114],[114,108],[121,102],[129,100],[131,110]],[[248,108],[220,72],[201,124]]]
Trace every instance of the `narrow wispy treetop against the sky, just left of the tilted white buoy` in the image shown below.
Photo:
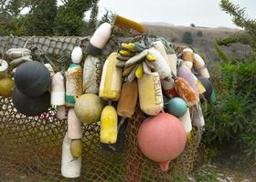
[[[99,6],[97,4],[98,4],[98,0],[93,4],[91,8],[91,15],[90,15],[90,20],[88,24],[88,35],[92,35],[97,27],[97,23],[98,23],[97,17],[99,13]]]

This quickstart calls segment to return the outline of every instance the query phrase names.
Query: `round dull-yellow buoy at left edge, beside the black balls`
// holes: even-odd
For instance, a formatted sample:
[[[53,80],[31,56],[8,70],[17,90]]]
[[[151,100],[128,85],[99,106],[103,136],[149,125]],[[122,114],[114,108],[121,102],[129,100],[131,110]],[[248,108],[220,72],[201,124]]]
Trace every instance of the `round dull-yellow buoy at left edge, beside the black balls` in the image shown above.
[[[15,86],[13,79],[4,77],[0,79],[0,96],[9,97],[12,95],[12,89]]]

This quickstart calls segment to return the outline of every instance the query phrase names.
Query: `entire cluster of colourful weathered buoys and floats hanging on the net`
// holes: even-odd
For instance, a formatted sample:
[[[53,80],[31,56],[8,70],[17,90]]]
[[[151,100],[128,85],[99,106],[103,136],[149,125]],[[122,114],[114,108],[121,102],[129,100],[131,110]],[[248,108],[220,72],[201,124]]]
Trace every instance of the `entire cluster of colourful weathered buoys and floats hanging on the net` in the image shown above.
[[[82,49],[75,46],[65,74],[50,75],[48,68],[36,61],[16,69],[13,102],[18,112],[38,116],[51,105],[57,106],[59,119],[68,120],[62,145],[64,177],[80,177],[82,125],[100,122],[102,149],[122,151],[125,119],[133,116],[137,104],[147,116],[139,127],[138,146],[163,171],[168,170],[169,162],[189,142],[192,126],[205,125],[200,101],[215,99],[202,57],[190,48],[177,56],[164,38],[123,42],[102,60],[102,49],[115,26],[146,37],[142,25],[117,15],[112,25],[103,23],[91,36],[84,64],[80,64]],[[3,70],[0,66],[0,76],[5,75]],[[0,95],[4,96],[3,92]]]

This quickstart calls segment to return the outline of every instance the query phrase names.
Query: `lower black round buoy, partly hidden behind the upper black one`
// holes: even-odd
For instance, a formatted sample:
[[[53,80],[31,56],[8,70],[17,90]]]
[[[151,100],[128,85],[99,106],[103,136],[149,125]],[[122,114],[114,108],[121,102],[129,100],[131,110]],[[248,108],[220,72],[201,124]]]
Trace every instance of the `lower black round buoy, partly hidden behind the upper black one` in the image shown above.
[[[50,106],[49,92],[46,92],[42,96],[30,97],[24,95],[15,87],[12,97],[16,110],[26,116],[39,116],[47,112]]]

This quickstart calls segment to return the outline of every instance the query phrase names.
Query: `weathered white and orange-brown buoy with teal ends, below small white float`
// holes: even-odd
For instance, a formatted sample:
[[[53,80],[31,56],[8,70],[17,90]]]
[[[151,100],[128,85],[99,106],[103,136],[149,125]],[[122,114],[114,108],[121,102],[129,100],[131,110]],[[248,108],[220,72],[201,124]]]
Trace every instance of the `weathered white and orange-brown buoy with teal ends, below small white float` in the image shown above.
[[[73,63],[66,72],[66,106],[75,105],[76,95],[82,95],[82,68]]]

